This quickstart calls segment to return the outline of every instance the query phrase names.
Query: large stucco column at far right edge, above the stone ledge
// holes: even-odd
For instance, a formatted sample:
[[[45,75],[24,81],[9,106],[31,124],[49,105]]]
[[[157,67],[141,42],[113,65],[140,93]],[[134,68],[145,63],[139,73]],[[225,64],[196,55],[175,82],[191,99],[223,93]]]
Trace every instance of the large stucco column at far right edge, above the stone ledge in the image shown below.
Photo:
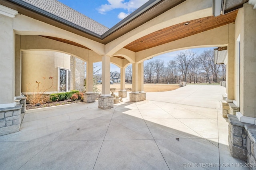
[[[256,10],[244,4],[240,36],[240,113],[256,118]]]

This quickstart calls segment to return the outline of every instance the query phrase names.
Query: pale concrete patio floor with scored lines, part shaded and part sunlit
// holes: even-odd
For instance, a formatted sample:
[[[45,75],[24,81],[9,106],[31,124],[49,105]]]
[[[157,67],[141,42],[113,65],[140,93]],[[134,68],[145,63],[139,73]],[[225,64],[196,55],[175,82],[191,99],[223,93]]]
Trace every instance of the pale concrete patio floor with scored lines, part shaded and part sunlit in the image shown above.
[[[107,110],[95,102],[27,111],[20,132],[0,137],[0,169],[247,169],[230,156],[224,93],[188,85]]]

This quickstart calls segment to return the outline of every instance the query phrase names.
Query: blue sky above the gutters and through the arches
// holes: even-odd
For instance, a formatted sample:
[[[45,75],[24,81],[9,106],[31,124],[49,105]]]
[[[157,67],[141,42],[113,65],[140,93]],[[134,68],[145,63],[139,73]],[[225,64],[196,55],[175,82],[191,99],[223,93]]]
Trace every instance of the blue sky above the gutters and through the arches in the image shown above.
[[[145,4],[148,0],[58,0],[66,6],[73,8],[74,10],[84,14],[92,20],[101,23],[102,25],[111,28],[116,25],[119,21],[124,19],[126,16],[134,12],[140,6]],[[213,48],[199,48],[191,49],[198,55],[204,50]],[[180,51],[174,51],[172,53],[166,53],[154,57],[154,59],[162,59],[167,64],[170,60],[174,60],[176,55]],[[147,63],[152,60],[144,61]],[[95,63],[95,66],[101,68],[101,62]],[[167,65],[166,65],[167,66]],[[120,68],[111,64],[111,71],[120,72]]]

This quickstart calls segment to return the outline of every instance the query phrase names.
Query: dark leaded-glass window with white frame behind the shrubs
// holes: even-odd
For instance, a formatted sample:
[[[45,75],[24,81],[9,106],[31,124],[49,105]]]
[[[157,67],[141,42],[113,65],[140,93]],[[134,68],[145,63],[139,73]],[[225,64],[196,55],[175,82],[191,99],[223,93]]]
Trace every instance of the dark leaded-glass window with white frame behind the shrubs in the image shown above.
[[[59,92],[70,91],[70,70],[58,68],[58,86]]]

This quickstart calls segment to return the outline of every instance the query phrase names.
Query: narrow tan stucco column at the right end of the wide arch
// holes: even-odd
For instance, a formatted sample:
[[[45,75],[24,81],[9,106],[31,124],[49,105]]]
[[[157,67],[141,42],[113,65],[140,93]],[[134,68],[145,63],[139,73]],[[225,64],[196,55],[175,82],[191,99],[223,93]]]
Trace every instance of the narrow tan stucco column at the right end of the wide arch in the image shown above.
[[[228,25],[228,63],[226,65],[226,92],[227,92],[227,102],[233,102],[235,99],[235,25]]]

